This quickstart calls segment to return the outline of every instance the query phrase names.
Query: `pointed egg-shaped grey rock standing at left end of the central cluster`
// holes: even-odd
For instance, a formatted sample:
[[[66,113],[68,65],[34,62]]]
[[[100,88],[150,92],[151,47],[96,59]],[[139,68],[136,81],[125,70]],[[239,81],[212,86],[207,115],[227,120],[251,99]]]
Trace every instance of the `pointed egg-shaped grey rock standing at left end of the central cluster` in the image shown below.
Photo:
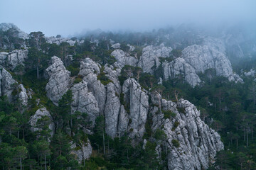
[[[65,69],[60,58],[54,56],[50,60],[50,66],[46,69],[50,77],[46,84],[46,95],[58,106],[58,101],[68,91],[70,87],[70,72]]]

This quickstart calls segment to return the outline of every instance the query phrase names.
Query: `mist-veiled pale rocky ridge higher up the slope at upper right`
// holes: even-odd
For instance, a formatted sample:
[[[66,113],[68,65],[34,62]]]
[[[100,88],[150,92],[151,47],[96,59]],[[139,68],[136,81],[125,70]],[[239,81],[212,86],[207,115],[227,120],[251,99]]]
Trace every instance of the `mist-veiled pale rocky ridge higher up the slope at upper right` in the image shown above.
[[[117,60],[115,67],[122,68],[127,64],[141,67],[144,72],[154,74],[161,65],[164,80],[181,77],[193,87],[202,83],[198,74],[204,73],[207,69],[215,69],[217,76],[226,77],[229,81],[243,82],[238,74],[233,73],[230,60],[225,55],[225,44],[220,39],[206,38],[202,45],[191,45],[183,49],[181,57],[174,57],[171,61],[161,63],[160,57],[171,57],[171,51],[171,47],[161,44],[144,47],[139,60],[122,50],[114,50],[111,55]]]

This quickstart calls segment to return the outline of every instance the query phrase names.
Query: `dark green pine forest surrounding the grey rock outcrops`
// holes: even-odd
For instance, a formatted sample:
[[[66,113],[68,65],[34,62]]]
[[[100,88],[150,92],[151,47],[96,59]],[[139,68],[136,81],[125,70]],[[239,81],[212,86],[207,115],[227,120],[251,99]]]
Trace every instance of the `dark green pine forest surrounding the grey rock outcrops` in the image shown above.
[[[188,45],[200,44],[202,41],[196,34],[186,32],[185,28],[176,32],[174,28],[153,30],[149,33],[102,32],[71,38],[75,41],[74,45],[68,42],[61,42],[60,45],[48,43],[41,32],[30,33],[26,40],[17,38],[14,30],[1,32],[1,51],[28,48],[28,57],[24,64],[9,70],[9,73],[18,84],[31,89],[33,94],[28,99],[27,106],[23,106],[22,101],[15,97],[19,93],[18,88],[12,91],[12,102],[7,96],[0,98],[0,168],[167,169],[168,155],[161,152],[159,157],[155,149],[157,140],[163,140],[165,134],[160,129],[156,132],[151,130],[151,115],[148,115],[143,136],[143,139],[147,140],[146,145],[143,140],[134,145],[127,134],[114,138],[108,136],[105,132],[104,115],[96,118],[92,132],[85,132],[85,128],[90,125],[90,121],[87,121],[88,115],[78,111],[70,114],[73,101],[70,90],[58,101],[58,106],[46,96],[48,77],[45,70],[51,57],[58,56],[71,72],[70,77],[73,77],[74,84],[78,84],[82,81],[82,77],[78,75],[80,62],[85,58],[89,57],[100,63],[102,68],[105,64],[116,62],[111,55],[114,41],[120,43],[119,49],[129,52],[130,55],[136,54],[138,58],[146,45],[160,45],[164,42],[167,47],[172,46],[174,50],[171,51],[170,57],[161,58],[161,64],[154,74],[145,73],[140,67],[125,65],[119,76],[120,83],[123,84],[126,79],[132,77],[146,91],[157,91],[166,100],[176,101],[177,98],[184,98],[193,103],[201,111],[201,120],[220,134],[225,145],[225,149],[218,152],[209,169],[256,169],[254,77],[241,74],[244,83],[235,84],[226,77],[217,76],[214,69],[207,69],[199,75],[203,81],[200,86],[191,87],[183,80],[182,75],[159,84],[159,77],[163,77],[162,64],[166,60],[171,62],[181,56],[181,51]],[[166,38],[165,35],[171,37]],[[7,49],[3,48],[4,44],[8,46]],[[134,46],[132,52],[129,51],[128,44]],[[251,55],[253,56],[246,59],[232,60],[232,56],[230,57],[235,72],[240,74],[241,69],[249,71],[255,67],[256,55]],[[104,85],[111,82],[102,70],[97,79]],[[31,130],[28,122],[41,105],[47,108],[53,118],[54,132],[49,129],[50,120],[47,116],[43,116],[36,123],[36,128],[41,130]],[[171,118],[174,113],[165,112],[164,115]],[[83,157],[82,162],[78,162],[75,155],[70,154],[74,149],[71,145],[75,142],[75,149],[81,149],[82,145],[86,145],[87,139],[92,145],[92,155],[90,159]],[[178,147],[179,143],[173,141]]]

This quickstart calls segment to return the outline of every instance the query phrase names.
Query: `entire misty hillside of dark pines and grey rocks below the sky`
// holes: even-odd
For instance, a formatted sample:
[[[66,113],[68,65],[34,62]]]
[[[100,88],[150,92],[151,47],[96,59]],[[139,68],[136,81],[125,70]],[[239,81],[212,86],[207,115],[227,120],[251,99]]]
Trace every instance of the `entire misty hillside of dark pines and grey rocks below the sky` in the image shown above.
[[[0,168],[256,169],[256,39],[216,32],[1,23]]]

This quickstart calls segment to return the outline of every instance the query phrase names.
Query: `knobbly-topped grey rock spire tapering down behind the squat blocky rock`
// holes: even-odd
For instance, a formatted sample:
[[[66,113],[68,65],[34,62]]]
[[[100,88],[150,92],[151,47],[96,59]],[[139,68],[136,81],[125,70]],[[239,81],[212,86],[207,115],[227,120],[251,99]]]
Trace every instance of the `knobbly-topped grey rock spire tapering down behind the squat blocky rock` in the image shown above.
[[[96,64],[90,58],[86,58],[85,62],[81,62],[79,75],[87,82],[88,89],[92,91],[93,96],[96,98],[100,113],[103,113],[106,101],[106,88],[101,84],[100,80],[97,80],[97,74],[100,74],[100,64]]]

